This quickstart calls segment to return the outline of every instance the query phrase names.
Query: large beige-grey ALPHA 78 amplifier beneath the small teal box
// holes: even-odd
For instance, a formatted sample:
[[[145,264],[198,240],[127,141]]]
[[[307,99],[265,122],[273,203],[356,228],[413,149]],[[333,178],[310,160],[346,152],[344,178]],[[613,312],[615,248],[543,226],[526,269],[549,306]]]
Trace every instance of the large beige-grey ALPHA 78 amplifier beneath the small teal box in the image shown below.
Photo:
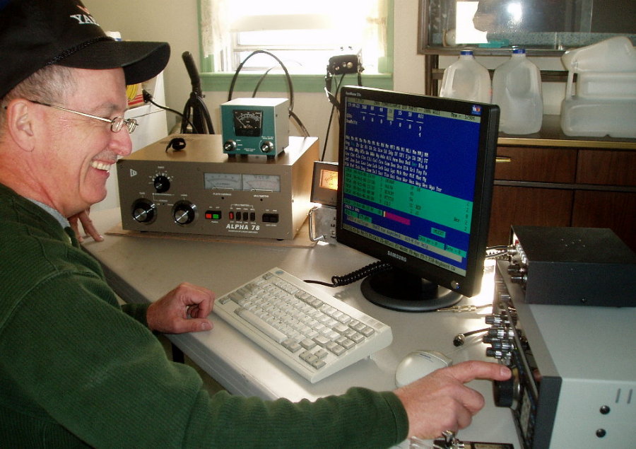
[[[181,151],[170,142],[182,139]],[[228,156],[216,134],[175,134],[117,161],[122,228],[294,238],[311,207],[316,137],[290,136],[277,158]]]

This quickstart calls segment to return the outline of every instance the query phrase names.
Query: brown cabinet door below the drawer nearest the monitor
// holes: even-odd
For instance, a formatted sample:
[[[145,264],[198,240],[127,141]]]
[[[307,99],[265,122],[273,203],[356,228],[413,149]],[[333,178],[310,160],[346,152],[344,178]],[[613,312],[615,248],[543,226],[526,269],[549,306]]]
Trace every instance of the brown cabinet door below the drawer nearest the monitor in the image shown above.
[[[488,245],[507,245],[510,226],[570,226],[574,192],[495,185]]]

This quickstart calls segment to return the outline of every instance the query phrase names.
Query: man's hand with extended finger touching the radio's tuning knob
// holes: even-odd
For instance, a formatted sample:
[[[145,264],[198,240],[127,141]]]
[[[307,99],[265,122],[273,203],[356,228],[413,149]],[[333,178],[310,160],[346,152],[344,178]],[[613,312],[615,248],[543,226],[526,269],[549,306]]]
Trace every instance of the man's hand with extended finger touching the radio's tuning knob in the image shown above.
[[[497,363],[467,361],[432,372],[395,390],[408,415],[408,436],[431,439],[471,424],[483,396],[466,387],[474,379],[507,380],[510,370]]]

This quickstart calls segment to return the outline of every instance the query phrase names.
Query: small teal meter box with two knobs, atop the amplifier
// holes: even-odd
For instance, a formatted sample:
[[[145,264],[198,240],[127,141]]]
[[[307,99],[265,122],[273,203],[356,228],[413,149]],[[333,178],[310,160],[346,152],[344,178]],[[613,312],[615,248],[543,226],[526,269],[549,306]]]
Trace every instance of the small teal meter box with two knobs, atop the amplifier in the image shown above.
[[[287,98],[235,98],[220,110],[223,153],[273,157],[289,145]]]

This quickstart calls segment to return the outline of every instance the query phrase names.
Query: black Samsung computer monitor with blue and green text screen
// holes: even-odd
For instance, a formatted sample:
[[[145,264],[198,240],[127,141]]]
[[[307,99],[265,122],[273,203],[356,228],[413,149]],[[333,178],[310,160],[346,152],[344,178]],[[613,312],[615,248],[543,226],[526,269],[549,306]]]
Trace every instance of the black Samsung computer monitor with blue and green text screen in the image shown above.
[[[390,264],[365,298],[427,311],[481,289],[496,105],[341,89],[336,238]]]

